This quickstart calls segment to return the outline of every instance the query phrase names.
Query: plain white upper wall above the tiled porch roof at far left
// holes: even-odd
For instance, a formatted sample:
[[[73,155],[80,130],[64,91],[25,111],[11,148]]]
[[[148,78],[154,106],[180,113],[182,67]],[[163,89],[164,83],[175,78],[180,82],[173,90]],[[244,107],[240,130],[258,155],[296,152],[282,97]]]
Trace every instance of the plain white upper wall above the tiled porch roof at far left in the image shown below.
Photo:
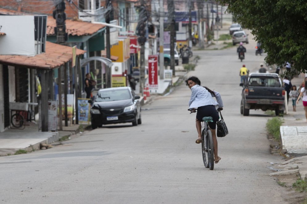
[[[35,55],[34,16],[0,15],[0,55]]]

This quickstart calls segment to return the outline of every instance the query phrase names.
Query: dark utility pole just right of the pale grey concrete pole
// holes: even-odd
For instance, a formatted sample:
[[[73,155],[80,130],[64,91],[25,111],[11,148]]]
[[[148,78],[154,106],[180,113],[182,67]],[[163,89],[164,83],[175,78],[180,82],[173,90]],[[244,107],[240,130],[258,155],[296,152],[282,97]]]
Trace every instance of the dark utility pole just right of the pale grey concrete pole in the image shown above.
[[[175,38],[176,38],[176,31],[175,31],[175,7],[174,7],[174,1],[168,0],[168,13],[169,13],[169,20],[171,21],[170,25],[170,55],[171,55],[171,70],[172,75],[175,76]]]

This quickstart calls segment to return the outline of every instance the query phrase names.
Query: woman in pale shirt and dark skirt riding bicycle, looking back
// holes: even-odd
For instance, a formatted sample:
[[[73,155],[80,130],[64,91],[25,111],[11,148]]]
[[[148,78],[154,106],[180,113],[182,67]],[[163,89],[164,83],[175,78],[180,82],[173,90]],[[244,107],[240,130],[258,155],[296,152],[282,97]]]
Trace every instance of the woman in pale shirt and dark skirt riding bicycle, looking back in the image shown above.
[[[201,121],[205,116],[211,116],[213,122],[209,122],[209,127],[212,131],[212,138],[214,144],[214,161],[218,163],[221,157],[218,157],[218,141],[216,138],[216,122],[219,119],[217,108],[223,109],[223,101],[220,94],[216,91],[212,91],[207,87],[202,87],[200,80],[196,76],[191,76],[189,79],[185,80],[186,85],[191,89],[192,94],[189,100],[189,109],[191,112],[196,112],[196,129],[198,133],[198,138],[195,141],[197,144],[202,142],[201,139]],[[216,101],[213,99],[216,98]]]

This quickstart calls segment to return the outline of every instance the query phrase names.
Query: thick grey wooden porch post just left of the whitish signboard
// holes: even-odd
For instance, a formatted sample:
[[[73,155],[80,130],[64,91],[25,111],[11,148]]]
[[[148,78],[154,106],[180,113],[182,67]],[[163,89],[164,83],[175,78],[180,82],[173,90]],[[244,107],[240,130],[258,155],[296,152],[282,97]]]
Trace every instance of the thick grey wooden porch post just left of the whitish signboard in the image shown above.
[[[42,132],[48,132],[48,77],[46,71],[41,71],[41,116]]]

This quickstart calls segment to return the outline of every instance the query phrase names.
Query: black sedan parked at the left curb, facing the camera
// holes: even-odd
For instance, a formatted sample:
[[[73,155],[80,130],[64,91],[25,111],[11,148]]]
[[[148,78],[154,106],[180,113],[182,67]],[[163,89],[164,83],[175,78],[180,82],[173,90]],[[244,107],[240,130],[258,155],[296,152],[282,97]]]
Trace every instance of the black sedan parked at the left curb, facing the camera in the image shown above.
[[[139,98],[130,87],[100,89],[91,108],[92,129],[104,124],[142,124]]]

